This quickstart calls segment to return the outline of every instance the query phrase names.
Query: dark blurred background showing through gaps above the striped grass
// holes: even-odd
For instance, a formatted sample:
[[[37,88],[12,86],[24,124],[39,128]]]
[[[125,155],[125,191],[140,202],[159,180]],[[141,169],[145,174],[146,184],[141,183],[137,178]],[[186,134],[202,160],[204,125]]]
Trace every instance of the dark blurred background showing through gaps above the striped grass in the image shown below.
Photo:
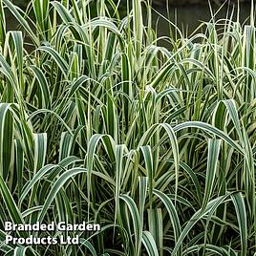
[[[119,3],[119,14],[125,16],[127,8],[126,0],[114,0],[114,2],[116,4]],[[151,2],[153,7],[153,23],[159,36],[169,36],[170,30],[172,30],[166,17],[168,20],[174,22],[188,36],[198,28],[201,22],[210,20],[211,11],[209,2],[212,5],[212,11],[216,13],[216,19],[225,18],[226,13],[236,11],[239,4],[241,6],[240,22],[247,24],[251,0],[210,0],[209,2],[208,0],[149,0],[149,2]],[[25,11],[29,0],[13,0],[12,3]],[[92,13],[96,12],[96,10],[94,11],[94,3],[96,1],[92,0]],[[16,30],[18,28],[16,19],[9,12],[7,16],[9,20],[7,29]],[[146,15],[143,16],[146,18]],[[166,46],[164,41],[160,41],[160,44]]]

